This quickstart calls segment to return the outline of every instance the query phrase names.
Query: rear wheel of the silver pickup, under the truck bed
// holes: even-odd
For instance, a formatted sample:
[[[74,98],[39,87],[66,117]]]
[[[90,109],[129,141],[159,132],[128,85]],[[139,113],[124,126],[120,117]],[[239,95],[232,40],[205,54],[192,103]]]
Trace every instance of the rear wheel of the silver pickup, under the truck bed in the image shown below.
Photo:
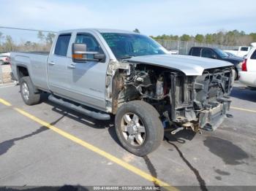
[[[30,77],[22,77],[20,79],[20,94],[25,104],[31,106],[38,104],[40,101],[40,93],[34,93],[35,87]]]

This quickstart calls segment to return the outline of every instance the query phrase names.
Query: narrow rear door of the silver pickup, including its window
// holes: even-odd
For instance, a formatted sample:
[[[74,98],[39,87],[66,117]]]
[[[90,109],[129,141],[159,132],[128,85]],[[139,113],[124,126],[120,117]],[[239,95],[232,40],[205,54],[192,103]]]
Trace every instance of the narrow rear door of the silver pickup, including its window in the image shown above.
[[[67,95],[67,63],[71,58],[67,52],[71,48],[69,42],[72,34],[59,34],[54,50],[51,50],[48,58],[48,86],[58,95]]]

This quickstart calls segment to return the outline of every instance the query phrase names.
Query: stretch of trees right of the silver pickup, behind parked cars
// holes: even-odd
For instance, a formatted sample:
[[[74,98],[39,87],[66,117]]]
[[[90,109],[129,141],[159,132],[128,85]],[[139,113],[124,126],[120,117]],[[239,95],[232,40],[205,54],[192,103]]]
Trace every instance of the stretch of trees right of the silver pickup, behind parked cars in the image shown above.
[[[214,34],[196,34],[195,36],[189,34],[151,36],[153,39],[164,40],[180,40],[187,42],[199,42],[206,44],[221,44],[225,46],[249,46],[252,42],[256,42],[256,33],[246,34],[244,31],[218,31]]]

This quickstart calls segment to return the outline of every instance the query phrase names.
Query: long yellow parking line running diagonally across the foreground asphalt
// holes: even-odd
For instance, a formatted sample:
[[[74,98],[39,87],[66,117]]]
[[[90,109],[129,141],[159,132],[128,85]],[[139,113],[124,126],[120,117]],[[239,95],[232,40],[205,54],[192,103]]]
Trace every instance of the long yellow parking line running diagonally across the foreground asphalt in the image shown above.
[[[11,106],[11,104],[9,102],[4,101],[1,98],[0,98],[0,103],[4,104],[6,106]],[[150,174],[148,174],[144,171],[141,171],[139,168],[136,168],[135,166],[124,162],[124,160],[121,160],[118,157],[115,157],[115,156],[111,155],[110,153],[105,152],[102,149],[99,149],[98,147],[95,147],[92,144],[87,143],[86,141],[78,139],[77,137],[72,136],[71,134],[65,132],[64,130],[56,128],[55,126],[50,125],[50,123],[40,120],[39,118],[35,117],[32,114],[29,114],[28,112],[23,111],[22,109],[18,109],[16,107],[14,107],[13,109],[15,109],[15,111],[19,112],[20,114],[23,114],[23,116],[26,116],[29,119],[34,120],[35,122],[38,122],[40,125],[50,128],[51,130],[55,131],[59,135],[64,136],[65,138],[67,138],[71,141],[74,141],[75,143],[80,144],[83,147],[86,147],[86,149],[89,149],[92,152],[96,152],[98,155],[101,155],[102,157],[108,158],[108,160],[111,160],[114,163],[121,165],[123,168],[126,168],[129,171],[132,171],[132,173],[138,174],[139,176],[143,177],[144,179],[147,179],[150,182],[154,182],[154,184],[157,184],[161,187],[165,187],[166,190],[177,190],[176,187],[172,187],[172,186],[170,186],[170,184],[167,184],[166,182],[162,182],[161,180],[157,179],[156,177],[151,176]]]

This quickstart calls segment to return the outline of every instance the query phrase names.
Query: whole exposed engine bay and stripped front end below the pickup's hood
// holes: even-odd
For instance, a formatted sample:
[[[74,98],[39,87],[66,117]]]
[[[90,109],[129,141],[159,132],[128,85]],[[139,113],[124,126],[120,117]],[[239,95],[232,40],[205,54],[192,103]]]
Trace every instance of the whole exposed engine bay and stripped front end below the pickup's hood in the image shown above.
[[[215,130],[230,108],[234,69],[223,67],[186,76],[181,71],[129,63],[113,79],[113,113],[121,104],[143,100],[154,106],[164,127]]]

